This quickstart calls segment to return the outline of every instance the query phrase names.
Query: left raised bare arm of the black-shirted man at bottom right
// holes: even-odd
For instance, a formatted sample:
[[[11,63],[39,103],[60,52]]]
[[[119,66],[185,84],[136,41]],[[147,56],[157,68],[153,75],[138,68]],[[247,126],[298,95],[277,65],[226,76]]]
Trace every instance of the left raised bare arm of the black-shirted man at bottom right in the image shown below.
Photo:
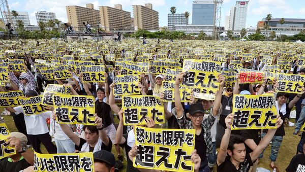
[[[229,114],[225,119],[227,129],[225,130],[225,133],[222,137],[219,152],[217,155],[217,165],[218,166],[220,164],[222,164],[223,162],[225,162],[225,159],[227,157],[228,145],[229,145],[230,135],[231,135],[232,120],[233,120],[233,114]]]

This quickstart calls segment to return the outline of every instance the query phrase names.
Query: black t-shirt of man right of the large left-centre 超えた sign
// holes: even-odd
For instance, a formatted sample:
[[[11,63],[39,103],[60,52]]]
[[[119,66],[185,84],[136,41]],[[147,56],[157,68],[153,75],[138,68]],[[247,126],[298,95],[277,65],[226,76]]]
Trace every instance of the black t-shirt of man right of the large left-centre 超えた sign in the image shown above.
[[[110,118],[111,108],[108,104],[106,104],[104,101],[100,102],[99,100],[96,100],[95,109],[96,109],[96,113],[98,114],[98,117],[103,119],[104,127],[108,127],[109,125],[112,124]]]

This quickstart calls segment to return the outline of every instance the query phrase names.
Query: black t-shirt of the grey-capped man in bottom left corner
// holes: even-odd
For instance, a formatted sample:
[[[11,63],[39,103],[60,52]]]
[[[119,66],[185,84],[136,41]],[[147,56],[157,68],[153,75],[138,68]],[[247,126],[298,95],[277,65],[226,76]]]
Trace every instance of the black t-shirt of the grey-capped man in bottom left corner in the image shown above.
[[[27,167],[31,166],[25,159],[21,159],[17,162],[9,162],[8,157],[0,161],[0,171],[19,172]]]

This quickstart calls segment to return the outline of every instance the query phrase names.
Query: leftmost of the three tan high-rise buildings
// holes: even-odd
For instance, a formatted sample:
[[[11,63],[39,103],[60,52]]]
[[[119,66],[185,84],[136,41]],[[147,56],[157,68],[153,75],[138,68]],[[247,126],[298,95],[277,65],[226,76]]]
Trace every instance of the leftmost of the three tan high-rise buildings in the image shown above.
[[[100,21],[100,11],[94,9],[93,4],[86,4],[86,7],[66,6],[68,22],[76,31],[85,29],[83,22],[88,22],[91,27],[97,28]]]

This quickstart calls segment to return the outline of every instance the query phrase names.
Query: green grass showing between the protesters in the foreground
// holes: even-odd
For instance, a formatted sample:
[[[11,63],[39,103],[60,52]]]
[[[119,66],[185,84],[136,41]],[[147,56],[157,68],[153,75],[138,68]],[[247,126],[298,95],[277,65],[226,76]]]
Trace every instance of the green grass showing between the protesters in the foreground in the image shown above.
[[[0,110],[2,112],[2,110]],[[10,132],[17,131],[13,118],[11,116],[3,116],[4,120],[10,130]],[[117,118],[114,118],[115,122],[118,122]],[[294,122],[294,119],[291,120],[291,122]],[[285,171],[286,167],[288,166],[291,158],[295,155],[296,153],[296,146],[300,140],[300,136],[297,135],[292,135],[292,132],[294,131],[294,127],[285,127],[285,132],[286,135],[284,136],[284,141],[282,143],[281,149],[279,151],[278,159],[276,161],[276,165],[280,169],[280,171]],[[42,152],[43,153],[48,153],[45,147],[42,145],[41,146]],[[124,155],[123,150],[121,150],[122,155]],[[112,153],[116,157],[116,151],[114,146],[112,147]],[[269,167],[269,156],[270,156],[270,146],[267,147],[263,159],[260,160],[258,166],[259,167],[264,167],[266,169],[272,170]],[[126,160],[124,160],[124,166],[126,167]],[[126,171],[126,168],[124,168],[122,171]],[[216,171],[216,168],[214,168],[214,171]]]

